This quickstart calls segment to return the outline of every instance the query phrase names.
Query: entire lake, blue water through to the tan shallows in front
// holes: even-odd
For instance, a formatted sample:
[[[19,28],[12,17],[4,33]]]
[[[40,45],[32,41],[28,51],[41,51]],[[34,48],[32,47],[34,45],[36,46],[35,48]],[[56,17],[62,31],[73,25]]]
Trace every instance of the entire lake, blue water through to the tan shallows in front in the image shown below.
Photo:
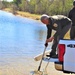
[[[44,51],[47,29],[40,21],[0,10],[0,75],[32,75],[39,62],[34,56]],[[51,43],[47,47],[50,49]],[[42,69],[47,62],[42,63]],[[50,62],[49,75],[63,75]]]

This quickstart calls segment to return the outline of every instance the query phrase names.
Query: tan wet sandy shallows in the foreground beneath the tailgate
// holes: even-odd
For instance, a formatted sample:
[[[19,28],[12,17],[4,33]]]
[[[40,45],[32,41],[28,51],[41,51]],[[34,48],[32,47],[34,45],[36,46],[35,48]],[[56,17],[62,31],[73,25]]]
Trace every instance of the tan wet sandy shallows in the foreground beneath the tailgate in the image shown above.
[[[3,57],[0,58],[0,75],[32,75],[32,72],[37,70],[39,63],[28,57]],[[47,62],[43,61],[41,70],[46,64]],[[48,75],[71,75],[55,70],[52,62],[49,63],[47,72]]]

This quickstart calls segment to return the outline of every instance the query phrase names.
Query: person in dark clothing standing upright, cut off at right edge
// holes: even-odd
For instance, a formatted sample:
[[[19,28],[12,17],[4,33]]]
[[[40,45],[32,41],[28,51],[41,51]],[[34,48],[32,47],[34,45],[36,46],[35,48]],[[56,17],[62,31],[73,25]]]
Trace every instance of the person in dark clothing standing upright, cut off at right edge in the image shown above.
[[[72,27],[70,31],[70,38],[75,39],[75,1],[73,2],[73,8],[70,10],[68,17],[72,20]]]

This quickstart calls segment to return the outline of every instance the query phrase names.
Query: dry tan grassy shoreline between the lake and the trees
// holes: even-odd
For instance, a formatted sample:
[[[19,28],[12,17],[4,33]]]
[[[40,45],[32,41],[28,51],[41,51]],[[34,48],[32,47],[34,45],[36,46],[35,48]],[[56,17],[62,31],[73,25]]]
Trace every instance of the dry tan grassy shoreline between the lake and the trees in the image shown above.
[[[34,19],[34,20],[40,20],[40,17],[41,17],[41,15],[31,14],[29,12],[23,12],[23,11],[15,11],[15,13],[13,13],[13,11],[10,8],[5,8],[5,9],[2,9],[2,10],[6,11],[6,12],[10,12],[10,13],[16,15],[16,16],[19,15],[19,16],[31,18],[31,19]]]

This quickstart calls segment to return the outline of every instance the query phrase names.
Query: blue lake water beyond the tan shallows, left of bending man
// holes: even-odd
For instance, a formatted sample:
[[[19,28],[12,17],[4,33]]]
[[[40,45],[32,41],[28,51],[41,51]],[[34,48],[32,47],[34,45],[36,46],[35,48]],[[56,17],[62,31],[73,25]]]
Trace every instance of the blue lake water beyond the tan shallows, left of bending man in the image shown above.
[[[34,57],[43,52],[45,40],[40,21],[0,11],[0,57]]]

